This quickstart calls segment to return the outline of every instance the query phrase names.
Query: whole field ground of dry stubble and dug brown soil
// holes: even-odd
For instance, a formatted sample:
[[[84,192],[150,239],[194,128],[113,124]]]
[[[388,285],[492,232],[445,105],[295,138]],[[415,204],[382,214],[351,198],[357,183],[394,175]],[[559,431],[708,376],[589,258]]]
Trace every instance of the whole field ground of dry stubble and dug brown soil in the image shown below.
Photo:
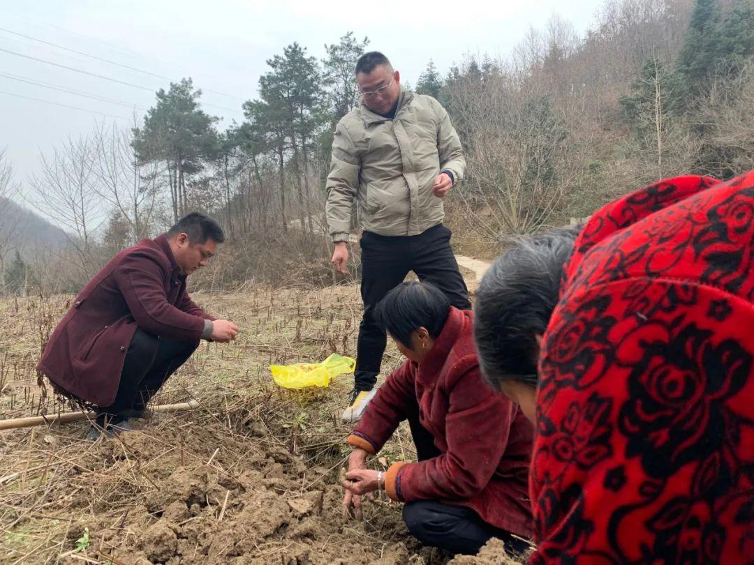
[[[86,441],[84,424],[0,432],[0,561],[8,563],[446,563],[405,530],[400,505],[365,502],[364,521],[342,515],[339,475],[350,377],[292,393],[270,362],[324,359],[354,347],[358,296],[255,290],[198,297],[238,321],[230,346],[203,346],[157,402],[201,408],[138,420],[133,432]],[[32,368],[66,298],[0,304],[14,320],[0,356],[2,417],[66,410],[41,398]],[[400,362],[388,350],[386,368]],[[400,429],[381,454],[411,460]],[[455,563],[511,563],[500,545]]]

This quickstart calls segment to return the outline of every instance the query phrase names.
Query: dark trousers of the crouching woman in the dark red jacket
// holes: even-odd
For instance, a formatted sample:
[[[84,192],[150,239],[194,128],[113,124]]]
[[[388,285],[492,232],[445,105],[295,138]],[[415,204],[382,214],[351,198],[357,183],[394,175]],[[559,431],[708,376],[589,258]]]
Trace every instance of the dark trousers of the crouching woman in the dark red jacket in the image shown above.
[[[432,434],[419,423],[418,406],[415,413],[409,414],[408,420],[417,459],[423,461],[440,455]],[[509,551],[523,553],[529,547],[509,532],[487,524],[477,512],[466,506],[434,500],[406,502],[403,521],[411,535],[421,543],[452,553],[475,554],[492,537],[502,539]]]

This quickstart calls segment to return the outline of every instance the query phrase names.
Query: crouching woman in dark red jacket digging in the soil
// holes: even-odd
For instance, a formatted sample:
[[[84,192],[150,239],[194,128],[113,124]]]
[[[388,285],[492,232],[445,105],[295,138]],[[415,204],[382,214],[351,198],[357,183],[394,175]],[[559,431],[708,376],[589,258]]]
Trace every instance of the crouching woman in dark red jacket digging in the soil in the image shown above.
[[[403,519],[421,542],[475,553],[492,536],[513,550],[532,534],[526,495],[532,426],[505,395],[483,382],[472,313],[450,306],[434,286],[403,283],[380,302],[375,319],[408,361],[391,374],[348,438],[354,446],[344,505],[384,489],[406,502]],[[401,420],[408,420],[418,463],[384,474],[366,469]]]

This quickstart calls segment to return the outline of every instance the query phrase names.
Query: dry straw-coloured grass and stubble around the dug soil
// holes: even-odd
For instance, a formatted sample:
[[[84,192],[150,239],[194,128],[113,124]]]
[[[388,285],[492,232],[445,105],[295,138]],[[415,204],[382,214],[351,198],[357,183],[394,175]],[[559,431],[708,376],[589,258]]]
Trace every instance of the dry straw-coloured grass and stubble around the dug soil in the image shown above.
[[[149,438],[151,450],[141,439],[107,442],[110,447],[84,441],[85,423],[0,435],[0,560],[106,562],[112,557],[109,546],[115,551],[136,542],[136,532],[128,529],[124,516],[154,496],[176,458],[180,466],[201,464],[236,476],[246,467],[251,445],[262,453],[281,449],[301,457],[305,470],[297,486],[302,491],[336,483],[348,429],[333,413],[345,402],[350,377],[325,390],[288,392],[272,383],[268,365],[323,359],[334,350],[351,353],[360,315],[354,288],[255,290],[195,298],[234,319],[244,332],[229,346],[203,345],[169,381],[156,402],[195,398],[203,408],[145,426],[139,434]],[[41,395],[34,371],[42,341],[68,304],[67,297],[0,304],[5,319],[0,342],[2,417],[69,409],[53,395]],[[396,354],[389,353],[386,365],[397,362]],[[399,434],[394,450],[410,457],[410,441],[405,440]],[[232,509],[223,518],[228,520],[230,514]],[[86,524],[102,528],[103,518],[110,519],[112,527],[90,529],[90,547],[97,549],[75,553]],[[389,542],[389,536],[376,536],[375,544]],[[269,543],[268,551],[282,551]]]

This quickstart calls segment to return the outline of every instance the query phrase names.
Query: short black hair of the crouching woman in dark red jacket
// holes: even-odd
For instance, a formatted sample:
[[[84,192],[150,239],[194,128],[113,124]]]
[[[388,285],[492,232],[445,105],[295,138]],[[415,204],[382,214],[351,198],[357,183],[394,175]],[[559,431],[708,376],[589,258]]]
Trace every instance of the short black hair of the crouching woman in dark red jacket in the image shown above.
[[[401,344],[411,349],[411,332],[426,328],[434,339],[443,331],[450,301],[427,282],[401,282],[377,304],[374,318]]]

